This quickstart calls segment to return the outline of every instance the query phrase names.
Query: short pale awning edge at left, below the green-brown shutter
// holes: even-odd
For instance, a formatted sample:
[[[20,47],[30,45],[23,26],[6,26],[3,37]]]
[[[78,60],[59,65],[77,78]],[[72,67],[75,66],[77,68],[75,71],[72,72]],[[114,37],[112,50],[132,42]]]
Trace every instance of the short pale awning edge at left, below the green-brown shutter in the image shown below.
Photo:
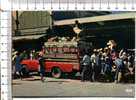
[[[39,39],[41,37],[45,36],[45,34],[41,34],[41,35],[27,35],[27,36],[15,36],[13,37],[13,41],[16,40],[32,40],[32,39]]]

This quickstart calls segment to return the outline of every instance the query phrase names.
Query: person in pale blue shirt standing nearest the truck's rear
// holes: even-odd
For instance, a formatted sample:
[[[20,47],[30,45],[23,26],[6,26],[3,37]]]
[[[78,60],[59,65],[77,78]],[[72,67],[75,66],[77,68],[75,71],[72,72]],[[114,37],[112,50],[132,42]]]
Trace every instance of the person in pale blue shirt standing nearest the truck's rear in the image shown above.
[[[84,82],[85,80],[90,78],[91,59],[89,56],[89,52],[85,52],[85,55],[83,57],[81,64],[82,64],[81,81]]]

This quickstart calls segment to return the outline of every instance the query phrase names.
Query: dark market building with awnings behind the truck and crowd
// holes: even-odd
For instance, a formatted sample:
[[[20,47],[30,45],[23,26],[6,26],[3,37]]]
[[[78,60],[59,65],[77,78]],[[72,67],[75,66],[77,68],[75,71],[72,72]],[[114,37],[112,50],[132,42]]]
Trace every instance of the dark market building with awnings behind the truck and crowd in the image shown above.
[[[119,48],[134,49],[135,12],[13,12],[13,48],[40,49],[48,36],[74,34],[75,21],[82,30],[83,41],[96,48],[114,39]],[[20,45],[21,44],[21,45]]]

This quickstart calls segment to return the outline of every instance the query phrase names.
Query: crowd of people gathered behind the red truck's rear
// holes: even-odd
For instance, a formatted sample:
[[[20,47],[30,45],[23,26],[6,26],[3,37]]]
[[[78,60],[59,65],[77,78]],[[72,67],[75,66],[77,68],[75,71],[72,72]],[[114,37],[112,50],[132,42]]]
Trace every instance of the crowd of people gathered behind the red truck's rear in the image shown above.
[[[81,61],[81,81],[134,82],[134,51],[117,51],[117,44],[109,40],[107,47],[85,51]]]

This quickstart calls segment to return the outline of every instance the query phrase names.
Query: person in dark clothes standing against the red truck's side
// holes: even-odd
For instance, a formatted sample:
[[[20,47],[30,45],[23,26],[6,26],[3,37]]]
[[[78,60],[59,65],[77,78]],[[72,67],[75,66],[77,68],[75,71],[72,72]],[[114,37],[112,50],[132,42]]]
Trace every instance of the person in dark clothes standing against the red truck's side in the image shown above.
[[[44,56],[43,52],[40,52],[38,60],[40,65],[40,76],[42,82],[44,82],[44,77],[45,77],[45,58],[43,56]]]

